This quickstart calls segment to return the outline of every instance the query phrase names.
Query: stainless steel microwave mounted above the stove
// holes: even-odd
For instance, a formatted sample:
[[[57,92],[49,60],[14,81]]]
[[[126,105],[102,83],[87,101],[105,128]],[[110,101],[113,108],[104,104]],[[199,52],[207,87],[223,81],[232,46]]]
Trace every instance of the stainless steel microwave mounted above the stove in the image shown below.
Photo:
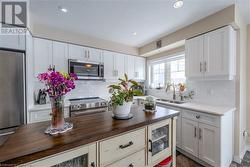
[[[69,59],[69,73],[75,73],[81,80],[103,80],[104,65]]]

